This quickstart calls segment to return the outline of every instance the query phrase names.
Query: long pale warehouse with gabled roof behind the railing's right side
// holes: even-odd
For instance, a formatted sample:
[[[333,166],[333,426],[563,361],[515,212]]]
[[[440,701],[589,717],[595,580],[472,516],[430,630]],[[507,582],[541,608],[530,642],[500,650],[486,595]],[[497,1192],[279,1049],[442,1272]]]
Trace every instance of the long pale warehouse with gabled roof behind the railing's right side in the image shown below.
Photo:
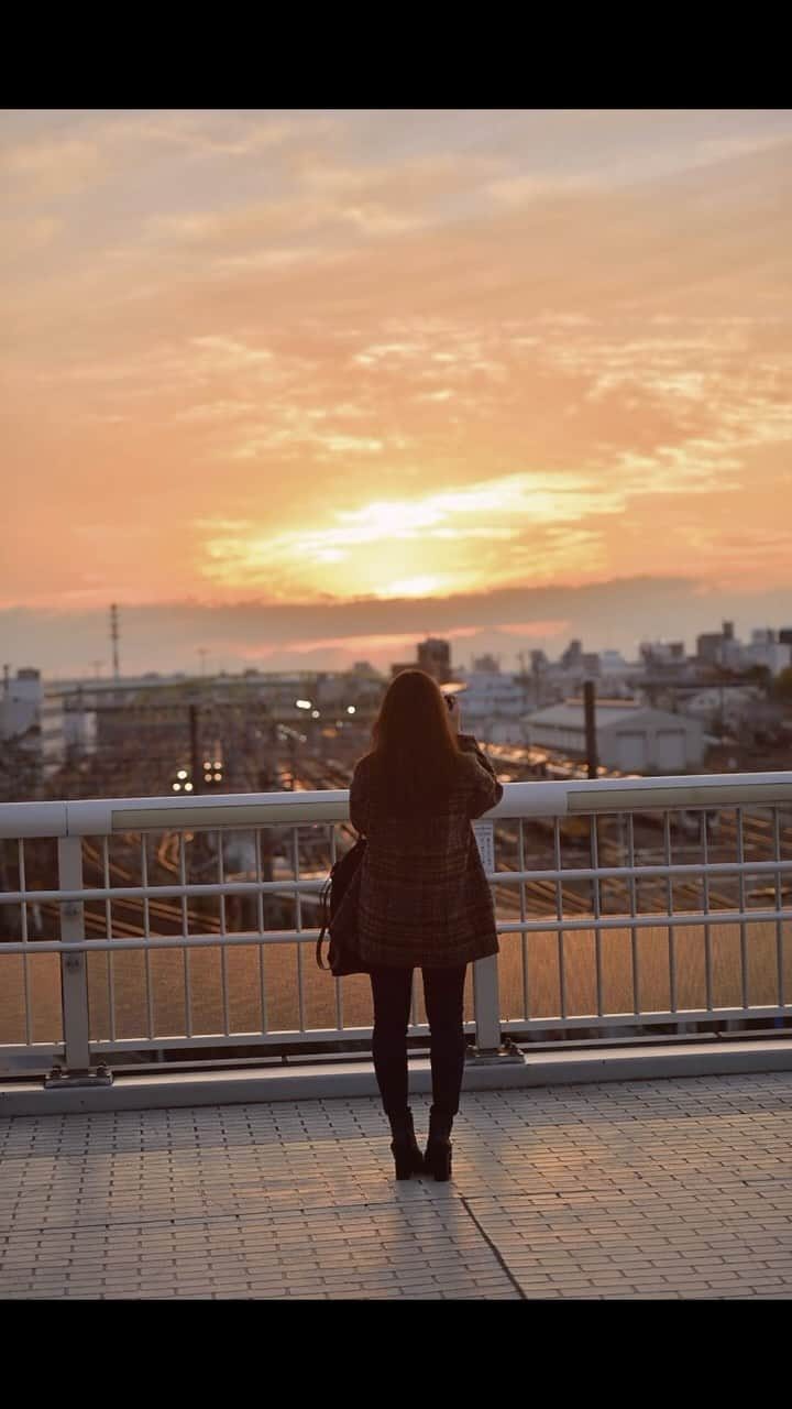
[[[527,741],[571,758],[586,755],[582,700],[565,700],[528,714]],[[598,700],[599,762],[624,774],[685,774],[700,768],[703,724],[683,714],[627,702]]]

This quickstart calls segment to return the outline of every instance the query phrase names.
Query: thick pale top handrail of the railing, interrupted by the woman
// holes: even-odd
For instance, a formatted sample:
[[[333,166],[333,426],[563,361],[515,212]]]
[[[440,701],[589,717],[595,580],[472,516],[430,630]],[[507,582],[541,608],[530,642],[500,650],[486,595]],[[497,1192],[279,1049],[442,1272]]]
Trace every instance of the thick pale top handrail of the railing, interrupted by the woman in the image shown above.
[[[602,812],[661,812],[741,806],[792,807],[792,772],[702,774],[506,783],[486,813],[568,817]],[[248,830],[349,820],[347,788],[316,792],[223,793],[207,797],[100,797],[0,803],[0,837],[104,837],[166,828]]]

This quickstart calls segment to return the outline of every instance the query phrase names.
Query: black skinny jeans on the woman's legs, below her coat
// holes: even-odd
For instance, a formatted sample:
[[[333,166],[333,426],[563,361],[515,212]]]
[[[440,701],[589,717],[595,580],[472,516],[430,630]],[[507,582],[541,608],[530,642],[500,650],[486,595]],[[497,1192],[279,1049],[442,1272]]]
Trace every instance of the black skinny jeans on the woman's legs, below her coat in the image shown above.
[[[464,992],[468,965],[424,968],[424,998],[431,1031],[431,1100],[443,1115],[455,1116],[465,1068]],[[375,968],[373,1069],[386,1115],[407,1109],[407,1024],[413,969]]]

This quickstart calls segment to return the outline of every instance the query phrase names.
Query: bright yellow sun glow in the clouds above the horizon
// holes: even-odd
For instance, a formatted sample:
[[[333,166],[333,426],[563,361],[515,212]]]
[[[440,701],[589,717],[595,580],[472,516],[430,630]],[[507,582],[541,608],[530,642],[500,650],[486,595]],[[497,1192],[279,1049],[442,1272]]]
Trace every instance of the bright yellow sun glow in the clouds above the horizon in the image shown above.
[[[595,492],[576,472],[526,472],[338,509],[324,524],[317,510],[313,523],[282,533],[221,520],[196,528],[217,588],[278,581],[280,593],[302,599],[424,597],[595,568],[596,538],[579,520],[619,514],[624,502],[626,490]]]

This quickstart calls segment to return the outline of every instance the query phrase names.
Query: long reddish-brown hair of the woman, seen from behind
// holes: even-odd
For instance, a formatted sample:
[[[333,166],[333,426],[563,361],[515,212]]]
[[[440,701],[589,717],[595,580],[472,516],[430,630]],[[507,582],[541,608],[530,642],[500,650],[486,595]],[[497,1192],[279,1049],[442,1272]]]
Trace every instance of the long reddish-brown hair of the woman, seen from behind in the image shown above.
[[[459,740],[437,681],[426,671],[396,675],[372,730],[373,765],[389,807],[426,810],[454,785]]]

